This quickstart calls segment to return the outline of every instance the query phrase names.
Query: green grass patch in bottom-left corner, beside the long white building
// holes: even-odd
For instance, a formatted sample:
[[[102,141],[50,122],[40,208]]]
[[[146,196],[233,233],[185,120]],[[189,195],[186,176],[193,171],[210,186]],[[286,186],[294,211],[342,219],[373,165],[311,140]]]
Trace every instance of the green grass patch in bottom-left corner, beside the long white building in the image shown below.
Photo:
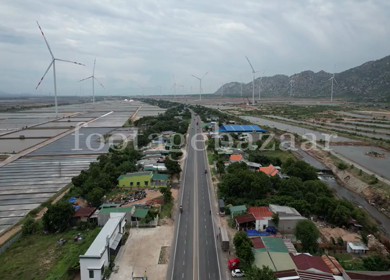
[[[78,267],[79,255],[87,251],[100,228],[81,231],[84,240],[73,242],[79,232],[22,236],[0,256],[0,279],[73,279],[68,269]],[[58,245],[60,238],[68,242]]]

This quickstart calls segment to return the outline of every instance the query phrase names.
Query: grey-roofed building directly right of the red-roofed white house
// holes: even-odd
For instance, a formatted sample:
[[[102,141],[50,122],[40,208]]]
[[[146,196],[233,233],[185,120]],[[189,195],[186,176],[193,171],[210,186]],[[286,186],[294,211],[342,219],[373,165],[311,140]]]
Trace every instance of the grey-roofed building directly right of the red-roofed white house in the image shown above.
[[[293,232],[299,221],[306,220],[292,207],[270,204],[269,210],[279,214],[278,230],[284,233]]]

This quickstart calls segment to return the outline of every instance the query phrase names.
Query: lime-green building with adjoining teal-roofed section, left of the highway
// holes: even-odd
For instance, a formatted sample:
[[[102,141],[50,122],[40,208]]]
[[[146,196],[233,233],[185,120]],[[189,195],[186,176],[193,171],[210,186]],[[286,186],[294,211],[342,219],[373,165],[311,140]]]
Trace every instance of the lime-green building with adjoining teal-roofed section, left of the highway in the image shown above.
[[[166,186],[169,176],[152,171],[135,172],[118,177],[118,186],[124,188],[150,188]]]

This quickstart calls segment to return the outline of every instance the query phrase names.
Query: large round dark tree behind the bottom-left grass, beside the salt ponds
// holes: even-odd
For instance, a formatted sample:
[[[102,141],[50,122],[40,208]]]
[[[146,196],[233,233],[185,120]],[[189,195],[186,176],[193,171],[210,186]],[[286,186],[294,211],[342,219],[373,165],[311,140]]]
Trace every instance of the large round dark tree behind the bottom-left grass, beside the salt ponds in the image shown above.
[[[58,201],[52,204],[43,215],[44,229],[49,232],[64,231],[68,228],[70,220],[74,215],[72,204],[66,201]]]

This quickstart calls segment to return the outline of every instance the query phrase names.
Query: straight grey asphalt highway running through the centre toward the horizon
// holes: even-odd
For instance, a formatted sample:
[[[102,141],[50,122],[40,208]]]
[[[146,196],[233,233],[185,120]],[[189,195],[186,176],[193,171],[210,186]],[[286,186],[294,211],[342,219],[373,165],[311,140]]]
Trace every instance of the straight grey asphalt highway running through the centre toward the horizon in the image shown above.
[[[199,125],[196,125],[197,122]],[[213,221],[215,210],[210,203],[210,174],[205,174],[208,165],[200,128],[200,118],[193,115],[180,186],[179,205],[183,206],[183,213],[175,215],[174,248],[168,266],[168,280],[223,279]]]

